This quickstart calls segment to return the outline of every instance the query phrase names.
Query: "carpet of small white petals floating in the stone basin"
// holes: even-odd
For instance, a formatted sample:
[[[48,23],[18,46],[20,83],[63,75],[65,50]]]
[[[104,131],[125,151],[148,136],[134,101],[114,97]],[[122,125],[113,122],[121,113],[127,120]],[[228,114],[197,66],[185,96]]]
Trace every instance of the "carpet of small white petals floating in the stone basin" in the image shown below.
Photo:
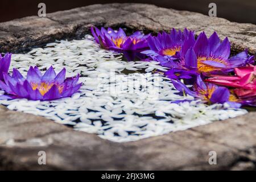
[[[180,96],[168,78],[154,72],[166,68],[155,61],[122,61],[121,54],[99,48],[89,35],[14,54],[10,69],[17,68],[26,75],[30,65],[42,71],[53,65],[56,72],[65,67],[68,77],[79,73],[80,93],[53,101],[17,99],[0,100],[0,104],[114,142],[185,130],[247,113]],[[181,100],[186,101],[174,102]]]

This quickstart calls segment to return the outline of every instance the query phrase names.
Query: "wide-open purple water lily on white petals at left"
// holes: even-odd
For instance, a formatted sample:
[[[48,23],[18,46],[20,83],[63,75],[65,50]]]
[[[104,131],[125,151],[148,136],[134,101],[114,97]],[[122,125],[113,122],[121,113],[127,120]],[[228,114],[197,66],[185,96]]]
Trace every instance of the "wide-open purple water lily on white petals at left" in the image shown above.
[[[27,78],[24,78],[17,69],[13,69],[13,75],[3,73],[3,81],[0,88],[6,94],[1,99],[27,98],[28,100],[56,100],[58,98],[70,97],[77,92],[81,83],[78,84],[79,75],[65,78],[65,68],[56,75],[50,67],[42,75],[38,67],[30,67]]]

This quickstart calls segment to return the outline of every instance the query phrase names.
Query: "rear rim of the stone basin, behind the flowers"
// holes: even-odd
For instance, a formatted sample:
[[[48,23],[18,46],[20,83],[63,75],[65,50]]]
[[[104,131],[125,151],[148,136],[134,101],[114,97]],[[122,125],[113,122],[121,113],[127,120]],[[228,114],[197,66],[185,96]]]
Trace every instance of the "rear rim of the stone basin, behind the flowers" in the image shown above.
[[[189,11],[164,9],[143,4],[91,5],[47,14],[46,18],[29,16],[0,23],[0,52],[16,51],[41,46],[55,39],[81,38],[89,27],[123,26],[138,30],[160,31],[170,28],[190,28],[207,35],[217,31],[233,43],[233,49],[248,48],[256,52],[256,25],[234,23]]]

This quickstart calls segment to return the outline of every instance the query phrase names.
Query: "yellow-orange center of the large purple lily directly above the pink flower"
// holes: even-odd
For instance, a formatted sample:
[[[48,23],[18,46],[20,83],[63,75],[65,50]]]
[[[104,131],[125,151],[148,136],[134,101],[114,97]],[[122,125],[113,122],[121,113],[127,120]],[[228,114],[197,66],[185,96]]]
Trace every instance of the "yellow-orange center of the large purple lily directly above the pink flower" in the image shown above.
[[[204,64],[203,61],[216,61],[217,63],[222,63],[224,65],[228,65],[225,60],[221,60],[219,58],[214,57],[197,57],[197,69],[199,72],[212,72],[212,71],[220,71],[221,68],[213,67],[207,64]]]

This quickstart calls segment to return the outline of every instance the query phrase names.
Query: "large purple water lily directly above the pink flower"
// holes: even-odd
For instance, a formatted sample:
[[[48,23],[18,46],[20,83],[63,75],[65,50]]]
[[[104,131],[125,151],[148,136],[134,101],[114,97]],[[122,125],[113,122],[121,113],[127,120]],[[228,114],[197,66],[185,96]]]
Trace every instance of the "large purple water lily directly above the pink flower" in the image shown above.
[[[188,43],[190,44],[190,43]],[[235,67],[242,67],[254,62],[254,56],[249,56],[247,51],[238,53],[230,57],[230,43],[228,38],[222,42],[216,32],[208,39],[202,32],[193,47],[181,50],[181,65],[185,69],[197,71],[199,73],[227,73]]]

